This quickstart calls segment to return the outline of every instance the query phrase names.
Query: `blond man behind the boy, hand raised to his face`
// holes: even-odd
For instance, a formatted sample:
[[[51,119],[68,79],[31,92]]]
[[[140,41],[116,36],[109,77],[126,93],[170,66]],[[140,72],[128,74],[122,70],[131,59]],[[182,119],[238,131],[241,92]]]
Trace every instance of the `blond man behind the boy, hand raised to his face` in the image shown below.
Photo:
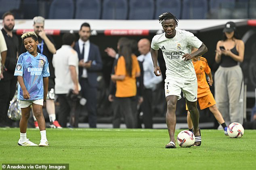
[[[38,42],[39,42],[37,46],[38,47],[37,52],[45,55],[49,62],[50,77],[49,77],[49,85],[48,85],[48,94],[46,98],[46,111],[49,115],[50,127],[61,129],[62,127],[59,125],[59,122],[56,120],[55,103],[54,103],[55,74],[54,74],[54,68],[52,66],[52,55],[56,53],[56,48],[55,48],[52,37],[46,35],[44,31],[44,17],[35,16],[33,18],[33,23],[34,23],[33,25],[34,31],[38,36]],[[21,47],[22,47],[21,53],[26,52],[24,45],[21,45]],[[36,128],[39,128],[38,122],[36,121],[35,117],[34,117],[34,124]]]

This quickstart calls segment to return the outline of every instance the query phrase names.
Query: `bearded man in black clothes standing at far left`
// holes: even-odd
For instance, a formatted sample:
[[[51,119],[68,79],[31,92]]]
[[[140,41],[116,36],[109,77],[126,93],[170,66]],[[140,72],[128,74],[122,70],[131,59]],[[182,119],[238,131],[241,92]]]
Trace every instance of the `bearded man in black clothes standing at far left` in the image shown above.
[[[0,126],[8,127],[12,126],[12,121],[7,117],[7,111],[10,100],[12,100],[16,90],[17,77],[13,76],[13,74],[17,63],[19,40],[12,32],[14,27],[13,14],[6,12],[3,14],[2,19],[3,28],[1,31],[6,42],[7,54],[4,70],[0,75]]]

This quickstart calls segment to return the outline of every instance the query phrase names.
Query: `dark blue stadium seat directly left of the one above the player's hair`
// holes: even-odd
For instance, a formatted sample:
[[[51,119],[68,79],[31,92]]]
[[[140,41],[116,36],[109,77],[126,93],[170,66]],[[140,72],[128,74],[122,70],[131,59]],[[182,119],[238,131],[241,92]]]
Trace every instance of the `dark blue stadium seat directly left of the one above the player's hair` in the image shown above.
[[[129,19],[153,19],[154,18],[154,0],[130,0]]]

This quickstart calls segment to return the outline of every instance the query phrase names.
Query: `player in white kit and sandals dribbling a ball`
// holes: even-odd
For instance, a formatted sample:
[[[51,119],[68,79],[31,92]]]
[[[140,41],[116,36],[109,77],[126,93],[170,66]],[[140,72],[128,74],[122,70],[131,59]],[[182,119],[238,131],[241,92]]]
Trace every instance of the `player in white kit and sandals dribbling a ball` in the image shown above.
[[[170,136],[170,142],[166,148],[175,146],[176,104],[181,98],[181,90],[186,99],[187,107],[193,122],[195,135],[194,146],[201,145],[201,133],[199,132],[199,111],[197,109],[197,78],[191,59],[203,55],[208,51],[206,45],[188,31],[176,29],[178,20],[170,12],[159,16],[164,33],[155,35],[151,43],[151,57],[156,76],[161,75],[157,65],[157,50],[161,48],[166,63],[165,95],[167,102],[166,124]],[[191,48],[198,51],[191,53]]]

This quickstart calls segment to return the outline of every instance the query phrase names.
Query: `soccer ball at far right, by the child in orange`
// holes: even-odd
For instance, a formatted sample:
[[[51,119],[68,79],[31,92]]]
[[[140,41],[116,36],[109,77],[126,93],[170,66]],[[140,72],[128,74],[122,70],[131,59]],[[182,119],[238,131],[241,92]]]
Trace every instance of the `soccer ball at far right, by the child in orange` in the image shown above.
[[[228,135],[231,138],[240,138],[243,136],[244,129],[240,123],[231,123],[227,129]]]

